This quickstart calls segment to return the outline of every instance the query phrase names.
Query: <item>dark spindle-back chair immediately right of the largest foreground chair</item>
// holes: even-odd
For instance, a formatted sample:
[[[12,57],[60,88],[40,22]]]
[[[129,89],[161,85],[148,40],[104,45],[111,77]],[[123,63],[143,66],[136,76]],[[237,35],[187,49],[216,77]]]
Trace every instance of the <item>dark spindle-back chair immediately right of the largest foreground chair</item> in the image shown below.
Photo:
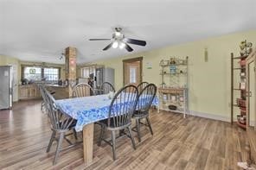
[[[149,110],[150,106],[156,97],[157,93],[157,86],[154,84],[149,84],[144,87],[144,89],[138,95],[138,103],[132,118],[136,120],[136,127],[133,128],[133,131],[138,133],[138,142],[141,142],[141,135],[140,135],[140,125],[143,124],[150,128],[150,133],[153,135],[153,130],[150,124],[149,118]],[[147,124],[141,123],[141,119],[146,119]]]

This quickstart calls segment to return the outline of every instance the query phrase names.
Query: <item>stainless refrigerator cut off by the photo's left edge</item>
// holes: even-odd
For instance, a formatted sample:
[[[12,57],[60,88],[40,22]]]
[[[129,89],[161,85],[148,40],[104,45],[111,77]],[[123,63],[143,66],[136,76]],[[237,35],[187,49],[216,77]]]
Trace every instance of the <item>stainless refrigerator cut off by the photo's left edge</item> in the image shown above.
[[[0,66],[0,110],[12,107],[11,66]]]

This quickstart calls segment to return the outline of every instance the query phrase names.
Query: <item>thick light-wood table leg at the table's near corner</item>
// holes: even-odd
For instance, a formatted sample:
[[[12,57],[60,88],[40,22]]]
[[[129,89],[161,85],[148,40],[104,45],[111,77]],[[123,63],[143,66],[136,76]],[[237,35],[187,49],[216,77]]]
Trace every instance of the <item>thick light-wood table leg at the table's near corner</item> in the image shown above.
[[[84,161],[86,166],[93,162],[93,123],[83,127]]]

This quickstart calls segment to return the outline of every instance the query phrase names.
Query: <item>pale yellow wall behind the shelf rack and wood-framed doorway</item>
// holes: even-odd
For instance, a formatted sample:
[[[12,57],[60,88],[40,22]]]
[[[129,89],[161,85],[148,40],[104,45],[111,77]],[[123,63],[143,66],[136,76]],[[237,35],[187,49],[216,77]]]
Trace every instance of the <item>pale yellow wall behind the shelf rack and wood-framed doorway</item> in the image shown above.
[[[170,37],[171,38],[171,37]],[[230,53],[239,56],[240,41],[256,45],[256,30],[223,35],[202,41],[163,47],[144,53],[121,56],[110,60],[95,61],[115,69],[115,86],[123,86],[122,60],[143,56],[143,80],[160,84],[159,61],[170,56],[189,56],[189,110],[221,116],[230,116]],[[208,48],[208,62],[204,61],[204,49]],[[134,47],[136,50],[136,47]],[[152,69],[146,69],[146,63]]]

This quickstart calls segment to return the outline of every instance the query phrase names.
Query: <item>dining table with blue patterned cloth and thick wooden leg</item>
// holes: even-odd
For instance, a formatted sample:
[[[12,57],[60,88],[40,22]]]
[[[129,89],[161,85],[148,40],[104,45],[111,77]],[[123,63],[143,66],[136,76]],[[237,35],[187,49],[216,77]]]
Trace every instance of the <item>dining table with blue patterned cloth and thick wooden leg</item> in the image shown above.
[[[56,100],[61,112],[77,120],[75,130],[83,133],[83,154],[86,165],[93,162],[93,124],[108,118],[112,98],[108,94]],[[139,101],[138,101],[139,102]],[[152,105],[158,106],[158,98]]]

